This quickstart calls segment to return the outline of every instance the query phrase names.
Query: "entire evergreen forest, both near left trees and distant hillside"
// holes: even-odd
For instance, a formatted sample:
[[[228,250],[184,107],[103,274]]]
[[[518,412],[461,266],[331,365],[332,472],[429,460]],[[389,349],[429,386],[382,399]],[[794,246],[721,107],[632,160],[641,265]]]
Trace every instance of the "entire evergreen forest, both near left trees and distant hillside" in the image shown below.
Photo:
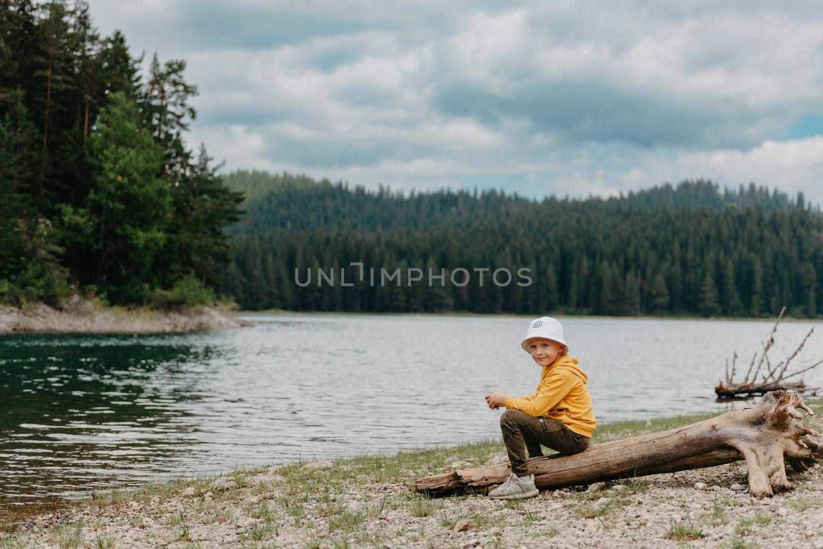
[[[167,307],[219,293],[246,310],[823,312],[823,215],[801,194],[695,180],[535,200],[221,175],[186,142],[198,88],[184,60],[143,61],[120,32],[100,35],[83,0],[0,0],[0,302]],[[358,277],[370,269],[378,284]],[[531,284],[494,284],[499,269]]]

